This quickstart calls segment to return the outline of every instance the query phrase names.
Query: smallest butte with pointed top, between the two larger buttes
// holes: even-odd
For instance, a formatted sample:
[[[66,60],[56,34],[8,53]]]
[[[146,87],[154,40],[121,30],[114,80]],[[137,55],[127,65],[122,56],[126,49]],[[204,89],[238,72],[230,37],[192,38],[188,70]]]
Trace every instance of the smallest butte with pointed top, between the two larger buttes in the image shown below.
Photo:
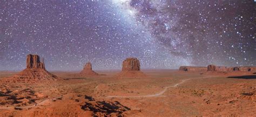
[[[91,63],[86,63],[84,65],[84,70],[80,72],[80,75],[82,75],[82,77],[90,77],[90,76],[97,76],[99,74],[92,70]]]

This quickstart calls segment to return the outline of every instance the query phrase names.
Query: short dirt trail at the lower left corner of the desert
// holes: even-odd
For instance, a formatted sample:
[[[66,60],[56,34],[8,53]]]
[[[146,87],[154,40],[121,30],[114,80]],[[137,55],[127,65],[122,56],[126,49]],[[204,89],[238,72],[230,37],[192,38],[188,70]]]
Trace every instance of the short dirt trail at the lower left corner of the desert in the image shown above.
[[[62,96],[60,97],[55,97],[55,98],[49,98],[49,99],[45,99],[45,100],[42,100],[40,102],[38,102],[38,104],[35,104],[35,105],[30,105],[30,106],[11,106],[11,107],[0,107],[0,109],[25,109],[25,108],[32,108],[32,107],[37,107],[37,106],[40,106],[40,105],[43,105],[45,102],[49,101],[49,100],[55,100],[55,99],[58,99],[58,98],[62,98]]]

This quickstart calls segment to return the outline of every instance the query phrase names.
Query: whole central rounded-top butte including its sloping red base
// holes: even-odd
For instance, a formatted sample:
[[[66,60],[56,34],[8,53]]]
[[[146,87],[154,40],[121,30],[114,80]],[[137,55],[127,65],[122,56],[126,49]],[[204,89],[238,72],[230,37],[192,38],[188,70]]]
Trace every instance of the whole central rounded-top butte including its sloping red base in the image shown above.
[[[122,72],[118,74],[121,78],[143,78],[146,75],[140,71],[140,63],[137,58],[127,58],[123,61]]]

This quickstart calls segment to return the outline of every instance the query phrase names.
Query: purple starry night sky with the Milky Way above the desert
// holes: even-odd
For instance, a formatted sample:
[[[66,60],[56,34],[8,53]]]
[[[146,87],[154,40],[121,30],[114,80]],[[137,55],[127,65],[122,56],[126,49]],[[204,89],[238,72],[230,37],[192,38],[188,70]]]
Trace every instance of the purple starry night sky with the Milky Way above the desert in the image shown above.
[[[22,70],[26,55],[48,70],[256,66],[252,0],[0,1],[0,70]]]

